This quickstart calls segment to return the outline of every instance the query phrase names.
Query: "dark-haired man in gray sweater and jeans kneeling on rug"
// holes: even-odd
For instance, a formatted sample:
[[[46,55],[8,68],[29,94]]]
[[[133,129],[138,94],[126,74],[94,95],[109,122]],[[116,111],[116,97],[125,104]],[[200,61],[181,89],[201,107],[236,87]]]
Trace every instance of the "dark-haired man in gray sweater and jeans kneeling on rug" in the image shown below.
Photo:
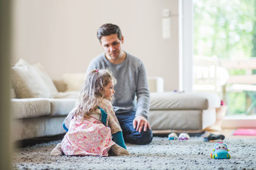
[[[122,49],[124,37],[117,25],[102,25],[97,37],[104,53],[90,62],[87,73],[92,69],[112,71],[117,80],[113,106],[124,139],[128,143],[146,145],[152,141],[152,131],[147,121],[150,94],[145,67],[140,59]]]

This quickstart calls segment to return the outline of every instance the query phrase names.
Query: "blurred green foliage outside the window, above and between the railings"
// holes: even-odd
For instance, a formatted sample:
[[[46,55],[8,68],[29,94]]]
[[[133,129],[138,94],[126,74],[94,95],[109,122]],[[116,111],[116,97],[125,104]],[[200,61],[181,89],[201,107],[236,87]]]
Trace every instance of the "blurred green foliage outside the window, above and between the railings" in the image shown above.
[[[256,57],[256,0],[194,0],[194,46],[195,55],[230,60]],[[245,94],[228,93],[227,99],[230,114],[245,113]]]

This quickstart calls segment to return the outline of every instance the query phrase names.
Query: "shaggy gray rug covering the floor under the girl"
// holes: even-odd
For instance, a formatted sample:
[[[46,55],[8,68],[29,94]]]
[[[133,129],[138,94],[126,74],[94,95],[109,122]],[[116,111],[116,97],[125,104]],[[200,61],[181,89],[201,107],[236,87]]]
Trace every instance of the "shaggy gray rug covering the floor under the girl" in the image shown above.
[[[13,169],[256,169],[256,139],[225,139],[231,159],[211,159],[215,143],[193,137],[168,141],[154,137],[149,145],[129,145],[124,157],[52,157],[60,141],[15,149]]]

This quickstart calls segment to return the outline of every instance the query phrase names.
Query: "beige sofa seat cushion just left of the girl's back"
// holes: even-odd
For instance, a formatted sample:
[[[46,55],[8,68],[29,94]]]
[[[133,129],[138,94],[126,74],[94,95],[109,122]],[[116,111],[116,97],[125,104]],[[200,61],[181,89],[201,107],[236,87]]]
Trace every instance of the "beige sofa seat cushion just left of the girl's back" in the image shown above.
[[[74,108],[76,99],[49,99],[51,103],[50,116],[68,115],[68,113]]]

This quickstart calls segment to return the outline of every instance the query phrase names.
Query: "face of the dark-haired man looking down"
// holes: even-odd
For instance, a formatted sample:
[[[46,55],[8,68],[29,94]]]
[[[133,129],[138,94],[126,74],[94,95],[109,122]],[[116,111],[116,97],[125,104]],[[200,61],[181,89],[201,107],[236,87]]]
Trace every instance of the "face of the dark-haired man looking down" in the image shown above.
[[[106,55],[111,60],[116,60],[120,57],[122,52],[122,44],[124,42],[124,37],[118,39],[117,34],[111,34],[109,36],[102,36],[100,39],[100,45],[102,45]]]

